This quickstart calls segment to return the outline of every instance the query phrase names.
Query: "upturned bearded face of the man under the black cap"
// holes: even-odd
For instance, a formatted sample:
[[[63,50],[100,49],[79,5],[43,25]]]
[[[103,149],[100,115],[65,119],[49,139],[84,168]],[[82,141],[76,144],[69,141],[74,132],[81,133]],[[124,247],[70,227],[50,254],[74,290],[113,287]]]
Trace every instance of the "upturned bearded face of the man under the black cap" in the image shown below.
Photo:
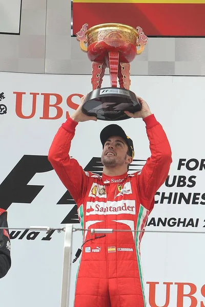
[[[121,137],[110,137],[105,145],[101,155],[101,162],[106,167],[116,167],[117,165],[128,165],[132,158],[127,155],[128,145]]]

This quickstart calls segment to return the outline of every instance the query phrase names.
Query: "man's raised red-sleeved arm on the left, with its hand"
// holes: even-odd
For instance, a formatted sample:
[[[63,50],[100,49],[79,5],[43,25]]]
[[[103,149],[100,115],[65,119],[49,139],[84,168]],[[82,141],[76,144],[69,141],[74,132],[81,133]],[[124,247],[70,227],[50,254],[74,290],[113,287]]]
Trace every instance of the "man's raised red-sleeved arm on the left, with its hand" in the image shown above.
[[[81,99],[83,103],[85,97]],[[75,127],[80,121],[96,120],[81,112],[81,105],[76,112],[58,129],[57,134],[51,144],[48,160],[52,164],[61,182],[71,193],[76,204],[84,198],[88,177],[78,162],[69,156],[71,141],[75,134]]]

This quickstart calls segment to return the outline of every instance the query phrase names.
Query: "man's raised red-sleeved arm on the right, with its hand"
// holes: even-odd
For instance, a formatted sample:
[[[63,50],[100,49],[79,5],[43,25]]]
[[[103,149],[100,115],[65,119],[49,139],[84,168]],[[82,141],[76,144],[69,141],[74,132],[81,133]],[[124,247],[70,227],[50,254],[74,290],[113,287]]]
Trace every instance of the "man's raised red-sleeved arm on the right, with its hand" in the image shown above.
[[[137,187],[142,204],[151,209],[156,191],[167,179],[172,163],[172,153],[162,126],[156,121],[147,103],[140,97],[138,99],[142,105],[141,111],[128,115],[135,118],[141,117],[146,123],[151,157],[137,175]]]

